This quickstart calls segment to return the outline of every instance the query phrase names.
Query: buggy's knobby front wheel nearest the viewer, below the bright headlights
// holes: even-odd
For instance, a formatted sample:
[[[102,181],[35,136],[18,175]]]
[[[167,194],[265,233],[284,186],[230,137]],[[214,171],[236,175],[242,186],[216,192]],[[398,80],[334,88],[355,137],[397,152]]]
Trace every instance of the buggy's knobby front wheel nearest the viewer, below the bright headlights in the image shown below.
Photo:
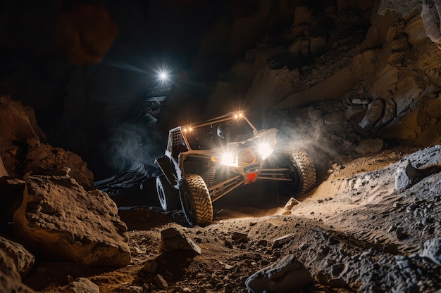
[[[180,181],[180,200],[191,226],[206,226],[213,221],[213,204],[204,179],[188,174]]]

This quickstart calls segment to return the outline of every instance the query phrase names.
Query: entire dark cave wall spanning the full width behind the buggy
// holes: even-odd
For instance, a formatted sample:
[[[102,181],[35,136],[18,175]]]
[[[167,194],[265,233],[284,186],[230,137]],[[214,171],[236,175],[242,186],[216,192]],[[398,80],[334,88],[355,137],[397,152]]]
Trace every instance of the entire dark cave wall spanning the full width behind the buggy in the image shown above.
[[[3,5],[2,92],[34,108],[49,143],[79,154],[99,176],[123,171],[111,162],[117,152],[137,154],[127,162],[154,156],[144,151],[157,139],[125,118],[164,51],[179,62],[160,134],[232,108],[261,122],[341,99],[365,136],[440,141],[436,1]],[[121,145],[113,139],[121,133],[134,139]]]

